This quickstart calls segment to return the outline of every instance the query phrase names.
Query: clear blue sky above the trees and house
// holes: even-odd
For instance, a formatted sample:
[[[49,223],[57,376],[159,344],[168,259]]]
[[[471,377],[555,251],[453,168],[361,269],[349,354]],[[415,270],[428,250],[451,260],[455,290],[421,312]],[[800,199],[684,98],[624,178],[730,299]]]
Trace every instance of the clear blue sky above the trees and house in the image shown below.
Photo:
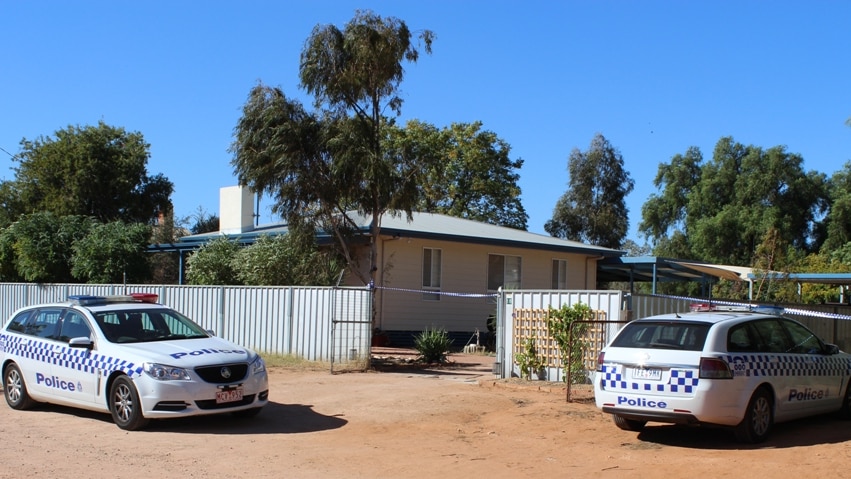
[[[631,239],[658,165],[723,136],[784,145],[828,175],[851,159],[851,2],[13,1],[0,4],[0,148],[98,121],[141,132],[178,216],[218,214],[248,92],[298,88],[304,41],[356,9],[432,30],[406,66],[401,121],[481,121],[522,158],[529,231],[602,133],[635,180]],[[0,151],[0,179],[13,179]],[[261,223],[275,221],[261,204]]]

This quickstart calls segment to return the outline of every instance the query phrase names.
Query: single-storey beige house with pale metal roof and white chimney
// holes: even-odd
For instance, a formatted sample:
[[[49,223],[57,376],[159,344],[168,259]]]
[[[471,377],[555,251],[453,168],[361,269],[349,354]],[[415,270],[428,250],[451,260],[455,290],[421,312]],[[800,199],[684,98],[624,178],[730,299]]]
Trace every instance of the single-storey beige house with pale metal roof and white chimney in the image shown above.
[[[250,244],[262,235],[287,232],[285,224],[255,226],[253,201],[247,188],[222,188],[220,231],[183,237],[172,251],[191,251],[221,235]],[[357,220],[369,234],[370,218]],[[414,213],[410,222],[404,214],[385,214],[375,241],[375,327],[394,344],[405,345],[428,328],[445,329],[457,346],[484,341],[474,336],[487,332],[499,288],[596,289],[598,261],[623,254],[433,213]],[[369,246],[357,248],[359,267],[368,268]],[[341,286],[368,285],[358,275],[346,274]]]

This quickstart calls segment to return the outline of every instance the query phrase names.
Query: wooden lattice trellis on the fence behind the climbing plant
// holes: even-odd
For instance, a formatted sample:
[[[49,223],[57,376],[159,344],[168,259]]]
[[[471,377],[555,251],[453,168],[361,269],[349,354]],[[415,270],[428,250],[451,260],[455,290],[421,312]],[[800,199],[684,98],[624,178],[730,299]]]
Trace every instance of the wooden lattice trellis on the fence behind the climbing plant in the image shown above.
[[[591,311],[592,317],[589,321],[606,321],[606,312],[600,310]],[[514,310],[514,357],[523,352],[526,339],[532,338],[538,356],[544,361],[545,367],[560,368],[561,351],[558,343],[550,337],[547,328],[547,317],[549,310],[546,309],[516,309]],[[588,371],[597,367],[597,355],[606,345],[606,325],[603,323],[589,324],[585,334],[580,340],[587,345],[582,351],[582,364]]]

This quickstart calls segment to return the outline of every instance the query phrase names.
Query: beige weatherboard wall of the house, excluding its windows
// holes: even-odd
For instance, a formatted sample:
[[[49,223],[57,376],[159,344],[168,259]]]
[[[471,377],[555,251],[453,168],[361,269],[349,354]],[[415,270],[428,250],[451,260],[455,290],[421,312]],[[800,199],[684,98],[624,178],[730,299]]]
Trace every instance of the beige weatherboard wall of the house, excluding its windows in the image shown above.
[[[423,248],[441,250],[443,294],[439,300],[426,299],[421,292]],[[595,287],[596,262],[586,255],[417,238],[384,238],[379,245],[377,265],[376,326],[385,331],[404,332],[443,328],[458,333],[465,341],[469,339],[465,339],[465,335],[472,335],[476,330],[486,333],[488,316],[496,312],[496,292],[487,290],[489,254],[522,258],[522,289],[551,289],[554,259],[568,262],[567,289]],[[484,342],[484,338],[481,341]]]

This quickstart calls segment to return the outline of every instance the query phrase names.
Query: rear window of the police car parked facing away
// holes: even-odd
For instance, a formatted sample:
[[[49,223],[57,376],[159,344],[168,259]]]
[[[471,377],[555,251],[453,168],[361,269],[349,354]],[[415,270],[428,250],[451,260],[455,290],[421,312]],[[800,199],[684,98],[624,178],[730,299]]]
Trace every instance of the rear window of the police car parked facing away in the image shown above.
[[[611,347],[701,351],[710,326],[685,321],[635,321],[624,326]]]

